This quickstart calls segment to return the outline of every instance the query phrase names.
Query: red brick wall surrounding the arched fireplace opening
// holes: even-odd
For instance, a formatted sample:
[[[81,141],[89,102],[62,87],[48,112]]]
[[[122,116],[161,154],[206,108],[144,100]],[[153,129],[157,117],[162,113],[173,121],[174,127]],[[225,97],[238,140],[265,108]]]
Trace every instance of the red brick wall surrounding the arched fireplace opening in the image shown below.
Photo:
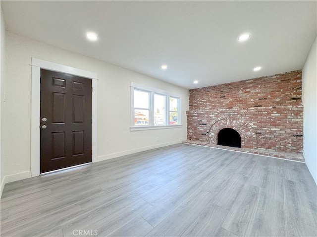
[[[302,154],[302,71],[189,90],[187,138],[217,143],[225,127],[242,148]]]

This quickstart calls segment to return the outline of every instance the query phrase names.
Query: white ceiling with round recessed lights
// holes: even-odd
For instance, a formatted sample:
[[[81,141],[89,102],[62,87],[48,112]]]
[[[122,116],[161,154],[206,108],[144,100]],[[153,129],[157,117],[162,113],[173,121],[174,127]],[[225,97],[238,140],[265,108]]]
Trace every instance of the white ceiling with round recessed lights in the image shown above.
[[[196,88],[302,69],[316,3],[1,0],[1,8],[10,32]],[[86,40],[87,31],[99,40]],[[241,33],[250,39],[239,42]]]

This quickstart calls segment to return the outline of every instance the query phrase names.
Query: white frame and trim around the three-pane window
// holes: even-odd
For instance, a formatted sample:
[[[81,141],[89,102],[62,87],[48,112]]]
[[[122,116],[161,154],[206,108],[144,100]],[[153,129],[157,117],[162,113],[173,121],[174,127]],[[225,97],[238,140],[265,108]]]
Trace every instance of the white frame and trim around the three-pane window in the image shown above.
[[[134,90],[149,92],[149,125],[142,125],[142,126],[135,126],[134,124]],[[165,125],[154,125],[154,97],[155,94],[165,96]],[[178,99],[178,118],[177,124],[169,124],[169,98]],[[138,131],[138,130],[151,130],[151,129],[166,129],[166,128],[176,128],[182,127],[181,124],[181,101],[182,98],[180,95],[171,93],[165,90],[161,90],[158,88],[154,88],[151,86],[146,86],[142,84],[138,84],[135,82],[131,82],[131,131]],[[140,108],[141,110],[141,108]]]

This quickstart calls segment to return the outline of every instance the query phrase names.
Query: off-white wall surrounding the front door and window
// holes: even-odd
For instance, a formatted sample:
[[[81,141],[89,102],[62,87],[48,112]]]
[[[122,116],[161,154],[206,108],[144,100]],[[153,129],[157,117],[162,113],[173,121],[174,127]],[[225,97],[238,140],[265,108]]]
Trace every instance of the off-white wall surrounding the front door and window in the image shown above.
[[[16,175],[10,180],[30,174],[31,57],[98,74],[98,160],[186,139],[187,89],[7,32],[3,156],[4,174]],[[130,131],[131,81],[180,94],[183,126]]]

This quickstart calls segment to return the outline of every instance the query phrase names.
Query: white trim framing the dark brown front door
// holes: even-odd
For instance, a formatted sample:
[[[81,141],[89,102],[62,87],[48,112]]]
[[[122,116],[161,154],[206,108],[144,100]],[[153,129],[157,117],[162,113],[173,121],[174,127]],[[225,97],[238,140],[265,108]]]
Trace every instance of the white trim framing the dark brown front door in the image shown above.
[[[31,174],[40,175],[41,68],[92,79],[92,162],[97,162],[97,73],[31,58]]]

